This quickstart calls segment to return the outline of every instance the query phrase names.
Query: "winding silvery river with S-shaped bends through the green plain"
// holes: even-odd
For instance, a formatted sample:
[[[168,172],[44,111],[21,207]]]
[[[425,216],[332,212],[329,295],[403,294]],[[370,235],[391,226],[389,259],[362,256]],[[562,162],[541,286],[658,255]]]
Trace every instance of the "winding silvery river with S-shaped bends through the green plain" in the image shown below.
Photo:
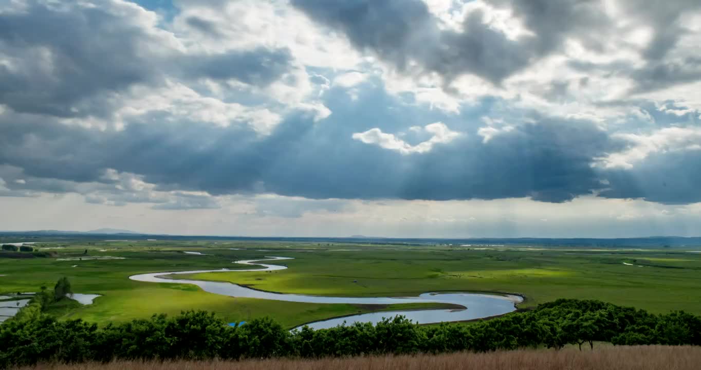
[[[475,320],[484,317],[491,317],[510,313],[514,310],[515,304],[523,301],[522,297],[515,295],[499,296],[496,294],[475,294],[475,293],[424,293],[420,296],[412,297],[330,297],[330,296],[306,296],[301,294],[282,294],[265,292],[256,289],[242,287],[230,282],[210,282],[203,280],[172,280],[161,278],[164,275],[184,275],[192,273],[219,273],[219,272],[245,272],[245,271],[272,271],[285,270],[287,266],[271,265],[259,263],[261,261],[283,261],[291,259],[288,257],[266,257],[266,259],[254,259],[246,261],[236,261],[243,265],[261,266],[262,268],[250,268],[243,270],[231,270],[222,268],[219,270],[195,270],[195,271],[174,271],[164,273],[146,273],[132,275],[129,278],[140,282],[165,282],[175,284],[197,285],[205,292],[222,294],[224,296],[269,299],[272,301],[304,302],[304,303],[351,303],[351,304],[395,304],[395,303],[453,303],[465,309],[433,309],[433,310],[398,310],[380,313],[365,313],[346,317],[336,317],[329,320],[309,323],[313,329],[325,329],[336,325],[352,324],[353,322],[379,322],[383,317],[394,317],[404,315],[409,320],[419,324],[431,324],[435,322],[451,322]]]

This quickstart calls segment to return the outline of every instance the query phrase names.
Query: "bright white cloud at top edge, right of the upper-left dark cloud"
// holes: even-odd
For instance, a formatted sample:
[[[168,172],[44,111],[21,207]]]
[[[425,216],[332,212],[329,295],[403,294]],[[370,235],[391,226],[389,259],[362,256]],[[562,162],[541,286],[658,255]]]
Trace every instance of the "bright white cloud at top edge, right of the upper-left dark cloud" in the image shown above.
[[[181,9],[173,29],[187,43],[204,50],[289,48],[306,66],[355,69],[362,57],[339,34],[326,32],[287,1],[176,0]],[[196,27],[196,21],[210,32]],[[214,34],[212,34],[214,32]]]

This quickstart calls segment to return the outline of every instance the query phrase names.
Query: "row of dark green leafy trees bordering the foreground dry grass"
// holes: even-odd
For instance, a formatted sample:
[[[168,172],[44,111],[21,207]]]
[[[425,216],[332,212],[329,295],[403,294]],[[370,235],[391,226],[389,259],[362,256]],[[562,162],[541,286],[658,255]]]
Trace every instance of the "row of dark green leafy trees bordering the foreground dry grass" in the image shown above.
[[[535,310],[464,324],[420,326],[403,317],[376,325],[287,331],[271,319],[229,327],[213,313],[154,315],[123,324],[57,321],[36,314],[0,326],[0,367],[112,359],[242,359],[488,352],[564,345],[701,345],[701,317],[653,315],[601,301],[560,299]]]

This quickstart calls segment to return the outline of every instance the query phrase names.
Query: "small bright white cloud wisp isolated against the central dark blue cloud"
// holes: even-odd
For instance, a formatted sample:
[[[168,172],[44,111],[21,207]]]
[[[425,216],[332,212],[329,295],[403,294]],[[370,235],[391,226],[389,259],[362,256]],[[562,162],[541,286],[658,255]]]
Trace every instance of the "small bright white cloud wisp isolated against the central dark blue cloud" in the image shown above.
[[[410,130],[416,131],[416,127],[412,127]],[[383,149],[397,151],[407,155],[411,153],[428,153],[436,144],[446,144],[463,135],[461,132],[450,130],[448,126],[442,122],[430,123],[423,128],[423,131],[433,136],[425,142],[420,142],[416,145],[411,145],[396,135],[386,134],[379,128],[372,128],[365,132],[356,132],[353,134],[353,139],[364,142],[365,144],[376,144]]]

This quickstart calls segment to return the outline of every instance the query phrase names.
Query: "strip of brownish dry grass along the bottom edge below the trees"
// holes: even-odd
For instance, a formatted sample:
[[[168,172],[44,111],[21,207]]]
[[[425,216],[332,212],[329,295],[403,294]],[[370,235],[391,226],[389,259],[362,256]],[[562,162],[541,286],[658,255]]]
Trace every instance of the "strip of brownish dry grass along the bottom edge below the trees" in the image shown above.
[[[113,362],[40,365],[35,370],[686,370],[700,369],[701,347],[608,347],[585,350],[517,350],[484,354],[353,357],[346,359],[266,359],[241,362]]]

